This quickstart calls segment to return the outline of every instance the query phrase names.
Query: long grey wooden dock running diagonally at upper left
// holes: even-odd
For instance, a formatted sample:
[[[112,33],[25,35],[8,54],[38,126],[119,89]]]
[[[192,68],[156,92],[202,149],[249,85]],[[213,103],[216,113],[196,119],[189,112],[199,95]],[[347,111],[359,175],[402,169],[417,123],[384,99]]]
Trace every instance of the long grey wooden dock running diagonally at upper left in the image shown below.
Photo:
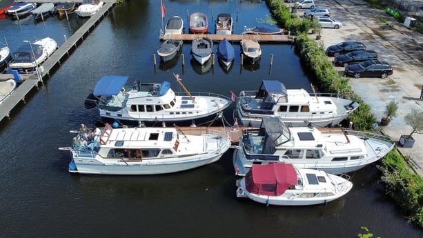
[[[39,3],[40,1],[33,1]],[[49,1],[51,2],[51,1]],[[86,21],[74,34],[72,34],[69,39],[66,40],[63,45],[61,45],[55,52],[53,52],[46,61],[39,66],[39,75],[36,72],[30,74],[23,73],[21,74],[22,83],[19,83],[19,86],[12,92],[12,94],[0,104],[0,121],[3,121],[5,117],[10,119],[10,112],[16,107],[20,101],[25,103],[25,97],[32,90],[32,88],[39,88],[39,83],[43,82],[43,78],[47,76],[50,77],[50,70],[54,70],[56,67],[59,67],[63,61],[68,59],[70,53],[72,53],[76,48],[84,41],[85,37],[88,37],[88,34],[98,26],[98,23],[104,19],[108,12],[115,6],[115,1],[108,1],[104,3],[104,6],[94,14],[92,17]],[[4,79],[3,79],[4,78]],[[0,80],[5,80],[7,78],[12,78],[10,75],[2,75]]]

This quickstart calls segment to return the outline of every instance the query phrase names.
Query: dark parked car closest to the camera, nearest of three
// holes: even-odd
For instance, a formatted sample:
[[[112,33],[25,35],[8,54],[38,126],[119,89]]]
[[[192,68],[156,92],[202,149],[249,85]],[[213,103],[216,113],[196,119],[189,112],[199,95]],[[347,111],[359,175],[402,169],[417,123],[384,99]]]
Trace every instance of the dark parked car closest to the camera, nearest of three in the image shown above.
[[[382,60],[366,60],[361,63],[351,64],[345,67],[344,75],[349,77],[381,77],[382,79],[393,74],[393,68]]]

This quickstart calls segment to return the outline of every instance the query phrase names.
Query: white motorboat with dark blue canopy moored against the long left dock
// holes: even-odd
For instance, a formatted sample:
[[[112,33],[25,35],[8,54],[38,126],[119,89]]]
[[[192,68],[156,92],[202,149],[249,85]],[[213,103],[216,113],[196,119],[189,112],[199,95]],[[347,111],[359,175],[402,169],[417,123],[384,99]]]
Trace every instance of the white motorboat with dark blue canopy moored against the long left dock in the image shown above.
[[[56,41],[50,37],[39,39],[32,43],[24,43],[13,53],[9,68],[21,72],[33,71],[46,61],[57,48]]]

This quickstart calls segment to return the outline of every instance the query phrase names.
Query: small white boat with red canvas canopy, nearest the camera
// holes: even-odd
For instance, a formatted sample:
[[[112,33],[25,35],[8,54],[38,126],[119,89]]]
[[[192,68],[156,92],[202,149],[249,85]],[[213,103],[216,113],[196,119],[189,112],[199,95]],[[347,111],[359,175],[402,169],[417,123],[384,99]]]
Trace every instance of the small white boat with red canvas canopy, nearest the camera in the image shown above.
[[[254,165],[246,177],[237,180],[237,197],[267,206],[326,204],[353,188],[348,179],[322,170],[296,169],[291,163]]]

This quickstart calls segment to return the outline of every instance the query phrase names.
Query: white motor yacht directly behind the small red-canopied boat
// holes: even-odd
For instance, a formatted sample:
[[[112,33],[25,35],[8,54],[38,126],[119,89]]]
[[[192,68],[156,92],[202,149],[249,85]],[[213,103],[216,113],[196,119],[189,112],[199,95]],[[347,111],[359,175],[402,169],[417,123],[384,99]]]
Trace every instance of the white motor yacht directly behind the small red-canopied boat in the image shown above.
[[[391,138],[342,128],[288,128],[278,117],[266,117],[257,129],[242,130],[233,153],[236,175],[253,164],[293,163],[297,168],[344,174],[382,159],[395,143]]]

